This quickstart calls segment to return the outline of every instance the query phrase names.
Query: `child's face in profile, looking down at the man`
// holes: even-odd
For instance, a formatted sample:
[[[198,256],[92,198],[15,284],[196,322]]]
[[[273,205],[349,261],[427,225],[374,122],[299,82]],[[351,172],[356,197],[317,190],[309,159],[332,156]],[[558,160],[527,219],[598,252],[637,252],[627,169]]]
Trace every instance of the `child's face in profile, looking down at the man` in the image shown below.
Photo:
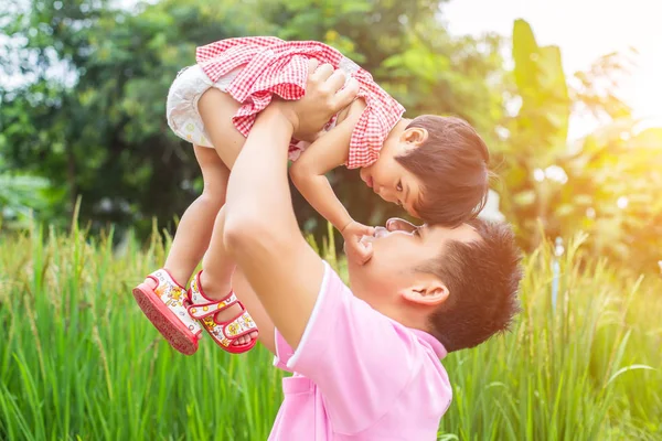
[[[412,216],[418,217],[414,206],[419,201],[421,183],[395,160],[395,157],[406,153],[406,150],[407,146],[403,142],[388,147],[384,144],[380,159],[361,169],[361,179],[384,201],[397,204]]]

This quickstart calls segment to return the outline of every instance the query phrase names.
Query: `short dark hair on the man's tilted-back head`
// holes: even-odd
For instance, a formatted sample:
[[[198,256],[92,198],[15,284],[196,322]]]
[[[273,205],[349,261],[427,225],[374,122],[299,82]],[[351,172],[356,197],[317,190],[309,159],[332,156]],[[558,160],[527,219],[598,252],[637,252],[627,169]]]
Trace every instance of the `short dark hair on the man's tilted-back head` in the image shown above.
[[[452,240],[420,268],[444,281],[448,299],[429,319],[431,334],[453,352],[473,347],[508,331],[520,311],[521,251],[504,223],[472,219],[480,239]]]

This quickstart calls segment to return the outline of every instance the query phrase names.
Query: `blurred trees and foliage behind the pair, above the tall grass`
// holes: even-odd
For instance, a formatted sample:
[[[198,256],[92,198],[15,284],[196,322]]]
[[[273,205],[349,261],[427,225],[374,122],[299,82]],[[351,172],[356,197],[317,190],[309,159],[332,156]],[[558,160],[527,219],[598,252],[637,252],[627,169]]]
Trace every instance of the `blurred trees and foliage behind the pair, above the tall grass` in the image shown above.
[[[589,233],[588,249],[636,271],[662,249],[662,129],[644,128],[611,90],[632,54],[568,73],[558,47],[519,20],[512,39],[452,36],[442,1],[18,0],[0,6],[0,216],[71,222],[77,197],[92,230],[173,230],[201,190],[193,151],[166,123],[166,96],[195,46],[239,35],[328,43],[373,73],[407,108],[477,127],[499,174],[500,209],[525,249]],[[512,51],[512,62],[504,52]],[[511,65],[512,64],[512,65]],[[601,127],[568,142],[574,112]],[[364,223],[402,215],[361,184],[331,175]],[[302,228],[325,223],[296,191]],[[33,212],[32,212],[33,211]]]

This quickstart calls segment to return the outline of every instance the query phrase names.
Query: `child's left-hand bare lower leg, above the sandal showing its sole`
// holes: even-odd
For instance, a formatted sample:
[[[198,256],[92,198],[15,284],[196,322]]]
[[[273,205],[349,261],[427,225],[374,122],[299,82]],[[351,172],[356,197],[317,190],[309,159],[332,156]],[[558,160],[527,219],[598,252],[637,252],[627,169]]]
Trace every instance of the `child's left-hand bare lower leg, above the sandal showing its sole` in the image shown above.
[[[194,146],[194,151],[202,170],[204,190],[184,212],[164,265],[182,286],[186,286],[210,245],[214,220],[225,203],[229,176],[229,170],[214,149]]]

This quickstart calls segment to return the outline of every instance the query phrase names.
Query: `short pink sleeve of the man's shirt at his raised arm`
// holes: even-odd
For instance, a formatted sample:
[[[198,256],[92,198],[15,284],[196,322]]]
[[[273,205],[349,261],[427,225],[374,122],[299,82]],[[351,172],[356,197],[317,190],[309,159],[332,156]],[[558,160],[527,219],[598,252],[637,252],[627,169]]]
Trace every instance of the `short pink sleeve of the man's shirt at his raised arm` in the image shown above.
[[[427,355],[412,332],[356,299],[325,267],[297,351],[276,332],[275,366],[314,381],[334,430],[357,433],[388,411]]]

